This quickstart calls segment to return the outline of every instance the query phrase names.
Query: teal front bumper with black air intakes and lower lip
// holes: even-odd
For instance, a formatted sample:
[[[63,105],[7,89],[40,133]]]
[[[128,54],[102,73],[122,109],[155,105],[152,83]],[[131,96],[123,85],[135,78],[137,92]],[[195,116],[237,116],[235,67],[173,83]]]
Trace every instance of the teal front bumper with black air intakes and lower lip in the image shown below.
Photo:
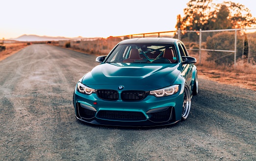
[[[182,92],[181,92],[182,91]],[[92,124],[115,126],[157,126],[173,124],[181,119],[183,88],[173,96],[147,96],[141,101],[107,101],[96,94],[74,92],[78,120]]]

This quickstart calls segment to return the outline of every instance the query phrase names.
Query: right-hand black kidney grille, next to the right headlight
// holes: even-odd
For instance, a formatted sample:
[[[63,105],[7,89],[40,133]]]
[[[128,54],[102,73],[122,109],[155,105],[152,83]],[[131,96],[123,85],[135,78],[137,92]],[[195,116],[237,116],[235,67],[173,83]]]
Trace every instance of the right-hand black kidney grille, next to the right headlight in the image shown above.
[[[145,99],[147,93],[145,91],[123,91],[121,99],[123,101],[140,101]]]

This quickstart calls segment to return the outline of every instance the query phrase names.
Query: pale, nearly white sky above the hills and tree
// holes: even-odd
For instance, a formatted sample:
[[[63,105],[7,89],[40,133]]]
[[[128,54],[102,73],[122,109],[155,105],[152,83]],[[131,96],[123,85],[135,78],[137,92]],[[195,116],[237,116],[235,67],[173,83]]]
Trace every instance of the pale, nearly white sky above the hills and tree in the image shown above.
[[[0,0],[0,40],[26,35],[102,37],[174,31],[189,0]],[[215,0],[221,3],[223,0]],[[227,0],[228,1],[228,0]],[[244,4],[256,17],[252,0]]]

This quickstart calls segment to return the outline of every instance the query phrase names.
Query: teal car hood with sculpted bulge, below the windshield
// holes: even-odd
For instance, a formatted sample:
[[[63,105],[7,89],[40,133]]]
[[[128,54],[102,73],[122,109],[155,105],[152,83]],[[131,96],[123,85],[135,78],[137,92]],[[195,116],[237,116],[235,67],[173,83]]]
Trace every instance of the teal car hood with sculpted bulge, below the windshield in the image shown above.
[[[87,73],[82,83],[94,89],[154,90],[170,86],[179,75],[179,64],[102,63]],[[146,88],[146,89],[145,89]]]

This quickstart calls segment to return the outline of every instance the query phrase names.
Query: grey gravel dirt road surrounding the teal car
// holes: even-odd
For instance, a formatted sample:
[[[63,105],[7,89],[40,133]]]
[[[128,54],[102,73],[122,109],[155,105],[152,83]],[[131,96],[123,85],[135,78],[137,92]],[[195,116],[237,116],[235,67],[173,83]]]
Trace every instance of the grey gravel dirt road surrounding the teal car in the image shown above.
[[[189,118],[125,128],[78,121],[72,94],[95,56],[31,45],[0,61],[0,160],[256,160],[256,91],[199,79]]]

